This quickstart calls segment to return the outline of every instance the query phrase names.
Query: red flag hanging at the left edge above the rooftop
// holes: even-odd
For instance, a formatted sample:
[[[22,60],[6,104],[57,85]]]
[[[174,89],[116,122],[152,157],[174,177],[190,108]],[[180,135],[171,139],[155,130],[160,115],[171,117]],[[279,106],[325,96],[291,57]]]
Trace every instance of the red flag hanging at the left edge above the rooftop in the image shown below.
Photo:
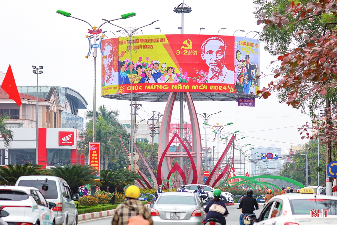
[[[15,83],[14,75],[12,72],[12,68],[10,64],[7,69],[7,73],[5,78],[2,81],[1,88],[8,94],[8,98],[14,100],[16,104],[20,107],[22,102],[20,98],[20,94],[18,91],[17,84]]]

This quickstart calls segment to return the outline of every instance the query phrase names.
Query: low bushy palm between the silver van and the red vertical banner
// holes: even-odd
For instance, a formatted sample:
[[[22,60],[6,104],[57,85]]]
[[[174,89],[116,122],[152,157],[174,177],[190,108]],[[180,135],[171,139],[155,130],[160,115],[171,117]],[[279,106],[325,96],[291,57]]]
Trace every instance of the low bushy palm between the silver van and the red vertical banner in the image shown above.
[[[73,194],[78,192],[78,188],[81,185],[96,185],[96,181],[93,179],[93,173],[96,171],[89,165],[68,164],[65,166],[56,166],[50,168],[50,172],[52,176],[64,179]]]

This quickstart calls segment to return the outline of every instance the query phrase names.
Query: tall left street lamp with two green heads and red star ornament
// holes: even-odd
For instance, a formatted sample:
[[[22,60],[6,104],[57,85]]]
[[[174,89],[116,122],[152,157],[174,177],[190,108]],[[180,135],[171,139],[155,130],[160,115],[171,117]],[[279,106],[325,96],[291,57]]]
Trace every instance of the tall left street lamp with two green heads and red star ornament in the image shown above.
[[[94,51],[93,51],[93,57],[94,57],[94,93],[93,94],[94,94],[94,97],[93,97],[93,118],[92,118],[93,119],[92,141],[96,142],[96,57],[97,57],[97,48],[99,47],[99,45],[96,43],[96,41],[97,41],[97,34],[101,33],[101,31],[99,30],[99,28],[101,28],[101,26],[103,24],[109,23],[109,22],[115,21],[115,20],[120,20],[120,19],[124,20],[124,19],[130,18],[130,17],[134,17],[136,15],[136,13],[131,12],[131,13],[127,13],[127,14],[121,15],[121,17],[117,18],[117,19],[113,19],[113,20],[109,20],[109,21],[107,20],[104,23],[102,23],[98,28],[96,26],[91,26],[90,23],[88,23],[85,20],[82,20],[82,19],[70,16],[71,13],[69,13],[69,12],[65,12],[65,11],[62,11],[62,10],[57,10],[56,13],[59,13],[59,14],[65,16],[65,17],[71,17],[71,18],[74,18],[76,20],[81,20],[83,22],[86,22],[87,24],[89,24],[89,26],[92,29],[92,32],[89,31],[89,33],[92,33],[94,35],[94,43],[95,44],[91,45],[91,43],[90,43],[90,49],[94,48]],[[86,55],[86,58],[89,58],[89,55],[90,55],[90,51],[89,51],[88,55]],[[132,110],[131,110],[131,112],[132,112]],[[131,116],[131,118],[132,118],[132,116]]]

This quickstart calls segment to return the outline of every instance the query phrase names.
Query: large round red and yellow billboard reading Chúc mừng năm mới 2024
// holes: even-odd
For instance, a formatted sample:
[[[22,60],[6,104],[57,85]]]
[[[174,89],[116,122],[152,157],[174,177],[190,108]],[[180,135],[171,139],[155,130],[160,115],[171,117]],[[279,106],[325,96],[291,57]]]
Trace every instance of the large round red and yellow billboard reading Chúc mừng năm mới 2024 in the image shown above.
[[[170,92],[190,92],[194,101],[256,97],[259,47],[246,37],[142,35],[134,38],[131,63],[126,37],[105,39],[101,96],[129,99],[132,82],[141,101],[166,101]]]

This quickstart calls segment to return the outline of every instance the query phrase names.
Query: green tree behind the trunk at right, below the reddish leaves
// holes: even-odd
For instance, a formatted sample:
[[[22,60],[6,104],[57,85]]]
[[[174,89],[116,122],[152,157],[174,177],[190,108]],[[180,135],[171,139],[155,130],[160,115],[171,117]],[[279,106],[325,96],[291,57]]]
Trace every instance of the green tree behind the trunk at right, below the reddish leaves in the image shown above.
[[[326,145],[319,145],[319,167],[318,167],[318,141],[311,140],[307,143],[309,150],[309,185],[317,185],[318,171],[319,174],[319,184],[325,184],[325,173],[326,173],[326,162],[325,153]],[[306,152],[306,146],[299,152],[304,154]],[[293,156],[292,161],[286,162],[283,167],[284,170],[281,171],[280,175],[288,178],[292,178],[302,184],[305,184],[306,179],[306,168],[305,168],[305,156]]]

